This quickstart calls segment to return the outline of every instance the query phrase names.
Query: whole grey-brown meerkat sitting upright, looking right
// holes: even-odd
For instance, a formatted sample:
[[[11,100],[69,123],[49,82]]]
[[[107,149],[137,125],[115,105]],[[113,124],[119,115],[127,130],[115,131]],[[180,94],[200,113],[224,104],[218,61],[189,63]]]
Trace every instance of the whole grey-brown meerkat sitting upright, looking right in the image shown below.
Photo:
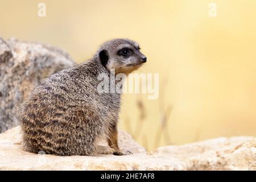
[[[23,147],[53,155],[128,155],[118,147],[121,93],[99,93],[99,74],[129,74],[147,61],[130,39],[103,43],[96,54],[55,73],[32,90],[19,110]],[[110,147],[97,146],[106,139]],[[110,150],[108,149],[110,148]]]

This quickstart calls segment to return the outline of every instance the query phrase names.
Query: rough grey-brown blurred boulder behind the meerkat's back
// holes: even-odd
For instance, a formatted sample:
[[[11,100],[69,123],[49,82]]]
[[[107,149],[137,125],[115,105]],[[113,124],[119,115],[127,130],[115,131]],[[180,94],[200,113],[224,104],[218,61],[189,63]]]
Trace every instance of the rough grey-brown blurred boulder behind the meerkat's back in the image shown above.
[[[74,64],[55,47],[0,38],[0,133],[18,125],[19,104],[38,81]]]

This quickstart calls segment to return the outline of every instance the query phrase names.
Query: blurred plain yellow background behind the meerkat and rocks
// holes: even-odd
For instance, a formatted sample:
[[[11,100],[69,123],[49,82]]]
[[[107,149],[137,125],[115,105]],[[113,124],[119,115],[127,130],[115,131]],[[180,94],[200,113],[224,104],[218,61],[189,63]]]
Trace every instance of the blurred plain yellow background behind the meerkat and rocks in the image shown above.
[[[63,48],[77,63],[105,40],[136,40],[148,57],[137,72],[159,73],[160,96],[125,94],[119,126],[148,150],[256,136],[256,1],[0,0],[0,36]]]

